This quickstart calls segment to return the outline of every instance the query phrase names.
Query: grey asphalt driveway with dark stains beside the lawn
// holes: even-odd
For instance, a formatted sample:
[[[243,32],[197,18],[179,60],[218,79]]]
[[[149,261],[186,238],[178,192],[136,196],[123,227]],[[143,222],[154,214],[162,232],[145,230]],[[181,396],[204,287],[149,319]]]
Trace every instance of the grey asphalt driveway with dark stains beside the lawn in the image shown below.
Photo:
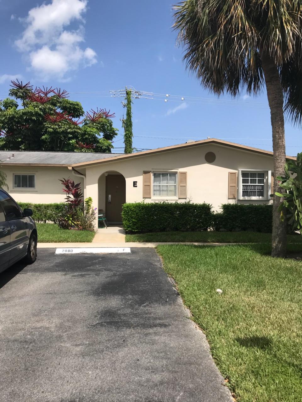
[[[54,251],[0,274],[2,401],[232,400],[154,249]]]

